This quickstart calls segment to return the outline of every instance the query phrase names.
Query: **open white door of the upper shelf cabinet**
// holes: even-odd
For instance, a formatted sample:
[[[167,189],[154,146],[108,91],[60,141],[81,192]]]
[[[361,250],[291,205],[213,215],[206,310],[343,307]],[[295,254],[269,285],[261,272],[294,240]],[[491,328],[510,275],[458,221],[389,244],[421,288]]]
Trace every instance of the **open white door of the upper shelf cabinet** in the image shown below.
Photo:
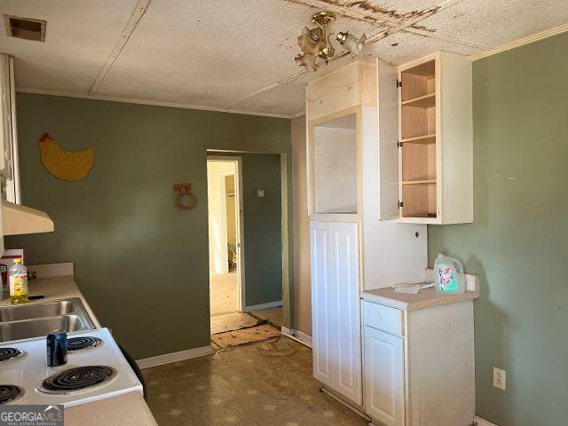
[[[376,59],[379,123],[379,219],[399,217],[398,71]]]

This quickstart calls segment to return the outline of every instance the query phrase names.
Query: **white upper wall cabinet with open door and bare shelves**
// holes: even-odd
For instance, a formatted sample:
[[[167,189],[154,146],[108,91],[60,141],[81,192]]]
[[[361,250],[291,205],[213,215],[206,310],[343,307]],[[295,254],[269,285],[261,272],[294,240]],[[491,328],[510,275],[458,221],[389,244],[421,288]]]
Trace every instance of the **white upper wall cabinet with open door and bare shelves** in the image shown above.
[[[424,224],[472,222],[470,60],[441,51],[396,70],[379,63],[377,72],[380,162],[398,163],[398,168],[380,168],[380,218]],[[398,99],[396,106],[393,99]],[[397,140],[392,131],[381,130],[393,125],[394,108]],[[398,182],[398,192],[393,182]]]

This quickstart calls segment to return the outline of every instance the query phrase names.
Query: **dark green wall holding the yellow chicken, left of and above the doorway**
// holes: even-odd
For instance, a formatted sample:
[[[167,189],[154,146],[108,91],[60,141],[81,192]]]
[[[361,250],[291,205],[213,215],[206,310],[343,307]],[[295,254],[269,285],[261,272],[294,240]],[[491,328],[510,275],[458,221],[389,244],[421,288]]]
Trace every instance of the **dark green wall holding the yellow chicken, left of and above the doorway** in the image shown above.
[[[25,247],[29,264],[75,262],[100,322],[136,359],[209,344],[206,148],[288,154],[289,120],[26,93],[17,102],[23,203],[49,213],[55,233],[6,237],[6,247]],[[67,150],[93,145],[91,173],[48,174],[44,131]],[[174,207],[182,182],[193,210]]]

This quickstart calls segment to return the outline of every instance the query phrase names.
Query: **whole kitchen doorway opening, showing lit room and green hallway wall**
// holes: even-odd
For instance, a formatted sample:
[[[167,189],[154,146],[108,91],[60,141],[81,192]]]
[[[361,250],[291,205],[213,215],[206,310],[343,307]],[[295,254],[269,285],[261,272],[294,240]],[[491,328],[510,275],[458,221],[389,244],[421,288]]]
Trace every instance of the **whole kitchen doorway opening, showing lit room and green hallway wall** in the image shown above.
[[[214,348],[271,338],[282,327],[286,204],[280,155],[235,154],[207,157]]]

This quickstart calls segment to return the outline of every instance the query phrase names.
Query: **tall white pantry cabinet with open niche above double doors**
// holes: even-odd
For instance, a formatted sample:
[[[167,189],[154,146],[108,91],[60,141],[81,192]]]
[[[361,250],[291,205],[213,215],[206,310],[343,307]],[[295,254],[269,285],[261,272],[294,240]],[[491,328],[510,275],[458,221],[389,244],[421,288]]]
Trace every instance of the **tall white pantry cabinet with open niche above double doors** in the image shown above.
[[[379,221],[377,68],[308,84],[313,374],[363,409],[360,292],[422,277],[426,226]]]

